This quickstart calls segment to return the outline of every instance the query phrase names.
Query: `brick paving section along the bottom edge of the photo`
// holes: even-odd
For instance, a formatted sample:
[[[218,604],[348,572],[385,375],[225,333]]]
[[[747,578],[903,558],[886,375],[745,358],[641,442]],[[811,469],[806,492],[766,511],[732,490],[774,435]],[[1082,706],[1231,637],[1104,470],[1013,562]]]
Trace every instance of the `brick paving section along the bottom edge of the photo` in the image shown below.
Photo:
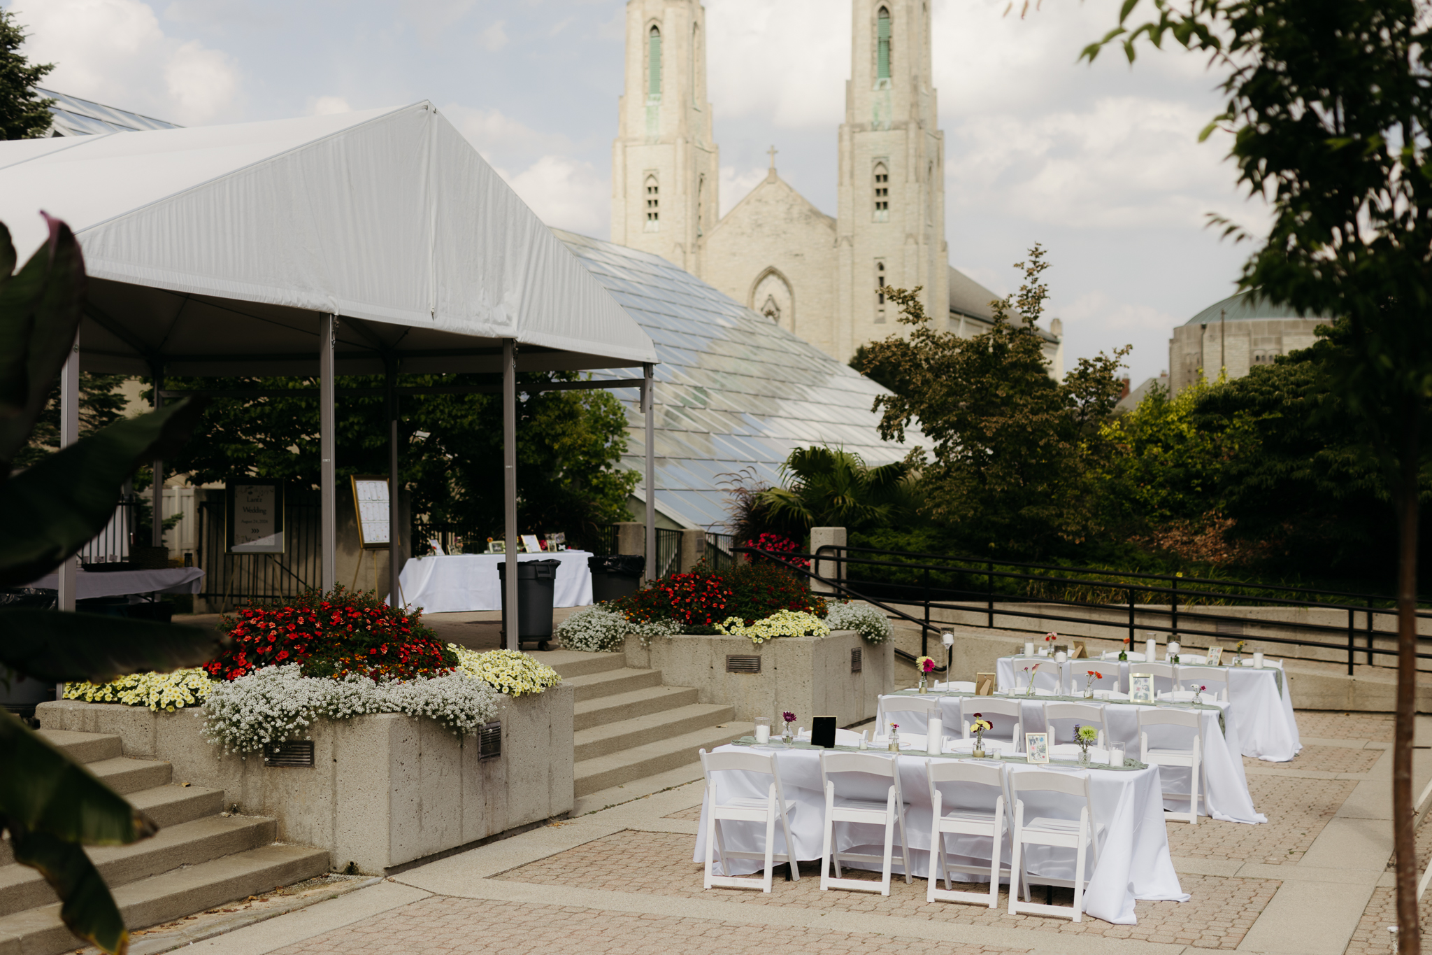
[[[434,896],[278,951],[326,952],[581,952],[583,955],[1022,955],[1027,948],[987,948],[951,941],[742,925],[670,915],[633,915],[526,902]]]

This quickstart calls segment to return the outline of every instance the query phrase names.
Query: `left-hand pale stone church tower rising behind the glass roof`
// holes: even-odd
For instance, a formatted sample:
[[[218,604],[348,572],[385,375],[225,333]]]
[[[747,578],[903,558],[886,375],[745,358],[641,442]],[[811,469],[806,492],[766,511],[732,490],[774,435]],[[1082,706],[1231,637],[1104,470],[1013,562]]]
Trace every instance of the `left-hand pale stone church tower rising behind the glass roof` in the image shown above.
[[[700,276],[720,173],[706,102],[706,10],[697,0],[627,0],[617,103],[611,241]]]

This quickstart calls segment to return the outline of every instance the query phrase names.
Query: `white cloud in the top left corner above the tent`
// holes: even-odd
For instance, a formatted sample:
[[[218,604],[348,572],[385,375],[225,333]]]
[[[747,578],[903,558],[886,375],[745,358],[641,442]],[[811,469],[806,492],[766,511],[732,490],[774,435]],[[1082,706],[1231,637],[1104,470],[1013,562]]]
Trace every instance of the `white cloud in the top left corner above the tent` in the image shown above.
[[[53,89],[178,123],[212,122],[238,99],[232,57],[168,36],[147,3],[17,0],[10,11],[30,33],[26,56],[56,64]]]

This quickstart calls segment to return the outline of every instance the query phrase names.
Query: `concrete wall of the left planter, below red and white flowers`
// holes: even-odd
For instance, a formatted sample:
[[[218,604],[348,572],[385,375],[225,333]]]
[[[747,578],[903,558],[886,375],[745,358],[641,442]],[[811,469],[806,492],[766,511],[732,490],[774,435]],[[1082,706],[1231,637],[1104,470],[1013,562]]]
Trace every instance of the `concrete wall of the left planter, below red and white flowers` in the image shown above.
[[[173,765],[176,783],[222,789],[225,806],[278,820],[282,842],[328,849],[335,868],[387,868],[477,842],[573,808],[574,690],[503,697],[501,756],[480,759],[431,719],[375,713],[311,726],[312,767],[265,766],[200,735],[199,709],[152,713],[63,700],[37,709],[44,729],[113,733],[125,756]]]

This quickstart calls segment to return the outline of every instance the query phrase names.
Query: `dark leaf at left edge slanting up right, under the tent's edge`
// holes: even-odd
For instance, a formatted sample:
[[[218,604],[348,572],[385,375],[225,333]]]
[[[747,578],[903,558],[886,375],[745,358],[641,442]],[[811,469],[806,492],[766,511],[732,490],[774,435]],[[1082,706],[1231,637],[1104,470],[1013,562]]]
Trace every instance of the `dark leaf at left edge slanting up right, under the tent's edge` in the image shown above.
[[[115,514],[119,487],[145,461],[189,437],[202,405],[185,399],[57,451],[0,484],[0,587],[54,570],[93,540]]]

